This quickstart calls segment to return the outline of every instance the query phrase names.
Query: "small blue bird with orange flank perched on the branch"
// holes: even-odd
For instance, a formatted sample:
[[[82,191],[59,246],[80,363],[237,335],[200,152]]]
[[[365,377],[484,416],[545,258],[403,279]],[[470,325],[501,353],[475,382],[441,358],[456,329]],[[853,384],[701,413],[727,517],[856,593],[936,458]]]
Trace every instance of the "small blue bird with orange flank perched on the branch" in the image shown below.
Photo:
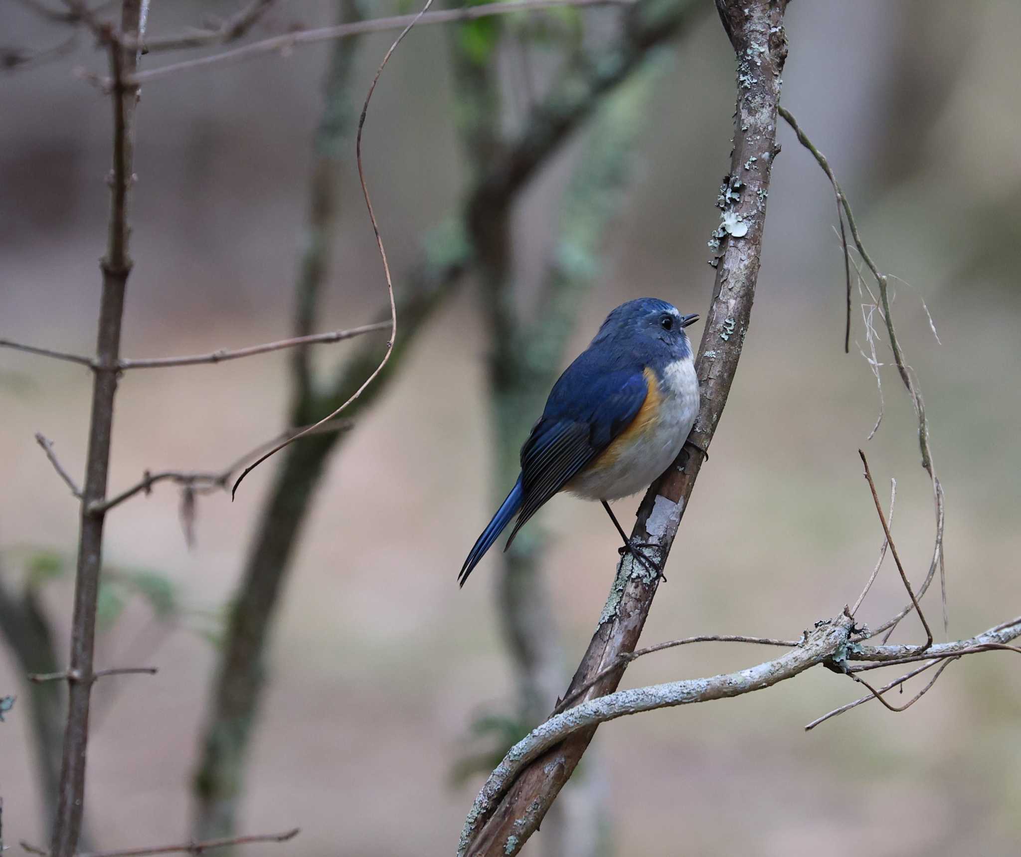
[[[626,550],[649,562],[631,545],[609,502],[646,488],[691,431],[698,378],[684,328],[696,321],[654,297],[629,300],[606,317],[553,385],[521,447],[521,476],[465,560],[461,586],[515,515],[506,547],[562,490],[599,501]]]

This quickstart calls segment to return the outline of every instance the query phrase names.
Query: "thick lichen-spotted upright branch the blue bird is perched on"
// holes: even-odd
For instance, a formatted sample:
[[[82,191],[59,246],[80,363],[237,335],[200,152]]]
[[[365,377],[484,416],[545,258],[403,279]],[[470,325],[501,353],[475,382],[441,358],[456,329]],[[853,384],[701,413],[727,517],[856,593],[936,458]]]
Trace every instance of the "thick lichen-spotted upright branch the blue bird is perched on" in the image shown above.
[[[725,199],[721,253],[696,364],[702,400],[692,438],[702,448],[712,441],[726,403],[755,296],[766,199],[776,153],[780,74],[787,52],[785,5],[782,0],[718,3],[738,59],[737,110],[730,176],[726,192],[721,194]],[[513,175],[513,170],[509,173]],[[677,466],[650,488],[639,509],[633,537],[658,544],[663,560],[669,554],[701,461],[700,455],[682,451]],[[630,556],[622,559],[598,629],[568,694],[613,663],[622,652],[634,650],[658,582]],[[619,680],[619,672],[612,674],[591,687],[586,697],[613,691]],[[466,821],[458,854],[517,854],[571,776],[594,729],[595,724],[579,729],[534,759],[513,781],[481,793]]]

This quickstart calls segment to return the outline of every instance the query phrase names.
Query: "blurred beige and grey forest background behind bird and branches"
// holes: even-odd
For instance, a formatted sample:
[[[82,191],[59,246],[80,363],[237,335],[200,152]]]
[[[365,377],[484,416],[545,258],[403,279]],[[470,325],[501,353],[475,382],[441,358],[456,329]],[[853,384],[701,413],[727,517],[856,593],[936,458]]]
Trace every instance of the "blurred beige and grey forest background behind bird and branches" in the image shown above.
[[[560,345],[552,352],[555,371],[623,300],[655,295],[685,313],[708,305],[706,242],[719,222],[714,201],[728,163],[734,60],[712,4],[701,5],[642,73],[635,86],[644,89],[616,102],[631,111],[615,127],[627,131],[627,169],[615,174],[609,197],[591,204],[606,228],[582,260],[584,282],[566,293],[563,315],[549,317],[553,340],[567,338],[563,353]],[[150,32],[175,33],[235,8],[155,2]],[[0,10],[5,45],[59,41],[60,31],[22,4],[2,0]],[[363,4],[367,15],[396,11],[406,9]],[[616,14],[546,17],[567,29],[584,20],[598,36]],[[254,35],[336,15],[328,0],[291,2]],[[488,58],[503,91],[494,114],[508,133],[555,74],[557,49],[555,36],[533,38],[515,20],[484,32],[499,41]],[[412,32],[369,115],[364,165],[398,297],[424,236],[448,221],[486,162],[484,145],[475,140],[471,148],[479,115],[472,72],[466,87],[457,70],[466,55],[471,64],[479,32]],[[1021,6],[1009,0],[813,0],[791,3],[787,14],[783,104],[829,157],[872,254],[906,281],[896,283],[900,333],[925,394],[947,498],[951,638],[1008,619],[1021,604],[1019,32]],[[392,39],[366,37],[356,53],[345,43],[353,58],[350,109]],[[333,52],[332,44],[304,47],[144,86],[126,356],[291,335]],[[174,58],[144,57],[142,67]],[[89,352],[108,204],[109,105],[72,76],[78,64],[105,72],[85,36],[69,55],[0,78],[0,336]],[[593,144],[609,139],[587,136],[591,128],[583,126],[515,201],[514,292],[500,300],[524,318],[570,220],[565,188],[570,194]],[[338,221],[326,237],[334,258],[314,322],[320,331],[374,321],[385,298],[349,132],[335,152]],[[877,481],[897,479],[894,533],[909,571],[920,577],[928,564],[931,493],[910,401],[884,367],[886,413],[866,442],[878,396],[859,353],[866,342],[857,291],[852,353],[843,353],[832,192],[789,129],[781,128],[780,140],[743,360],[646,645],[714,632],[796,637],[853,602],[881,541],[859,446]],[[470,267],[420,325],[402,327],[398,319],[398,338],[418,331],[409,350],[378,398],[351,415],[335,454],[324,453],[270,631],[237,821],[244,831],[302,832],[286,846],[259,848],[449,853],[483,773],[467,763],[480,753],[480,765],[488,763],[530,705],[545,712],[554,702],[522,698],[527,680],[501,633],[513,594],[499,583],[499,560],[487,558],[463,591],[455,583],[509,486],[505,463],[493,463],[494,444],[505,460],[548,389],[536,382],[546,386],[534,401],[491,394],[493,293],[485,280]],[[700,336],[700,325],[693,333]],[[386,334],[371,335],[378,344]],[[308,353],[315,374],[325,382],[366,341],[315,346]],[[111,490],[146,469],[223,468],[285,428],[292,361],[285,351],[128,373]],[[78,476],[89,389],[81,367],[0,353],[0,583],[7,599],[31,602],[48,617],[58,664],[66,657],[78,510],[33,436],[50,437]],[[522,413],[512,430],[516,409]],[[193,782],[225,616],[262,531],[261,504],[286,460],[278,456],[251,474],[233,504],[223,492],[200,496],[191,550],[179,523],[181,492],[172,485],[107,521],[110,582],[97,666],[151,663],[159,672],[95,688],[86,827],[96,847],[175,842],[193,829]],[[625,526],[632,507],[637,498],[618,504]],[[548,614],[541,627],[555,628],[543,638],[552,678],[535,686],[566,686],[612,580],[617,535],[597,506],[566,498],[549,505],[535,533],[524,562],[537,558]],[[934,617],[935,591],[930,598]],[[866,619],[886,618],[903,602],[892,566],[884,567]],[[894,637],[918,638],[914,621]],[[688,647],[643,659],[625,684],[709,675],[766,657],[746,647]],[[607,724],[579,782],[565,792],[564,817],[552,820],[589,830],[591,842],[576,832],[554,846],[544,827],[529,848],[629,857],[808,855],[824,844],[835,855],[873,857],[1017,854],[1021,682],[1012,657],[952,666],[905,714],[873,704],[810,733],[805,723],[858,688],[816,669],[769,693]],[[19,696],[0,725],[10,843],[46,839],[23,672],[0,648],[0,694]],[[496,727],[478,734],[487,723]]]

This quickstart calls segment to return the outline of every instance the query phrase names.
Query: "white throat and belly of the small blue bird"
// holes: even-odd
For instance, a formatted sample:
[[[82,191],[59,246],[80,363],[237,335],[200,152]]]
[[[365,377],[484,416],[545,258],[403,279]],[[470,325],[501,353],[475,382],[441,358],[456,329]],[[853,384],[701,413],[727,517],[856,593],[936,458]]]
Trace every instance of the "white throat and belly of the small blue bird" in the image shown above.
[[[663,402],[657,423],[609,467],[576,476],[568,490],[587,499],[619,499],[644,490],[670,466],[698,414],[698,378],[692,360],[668,366],[660,387]]]

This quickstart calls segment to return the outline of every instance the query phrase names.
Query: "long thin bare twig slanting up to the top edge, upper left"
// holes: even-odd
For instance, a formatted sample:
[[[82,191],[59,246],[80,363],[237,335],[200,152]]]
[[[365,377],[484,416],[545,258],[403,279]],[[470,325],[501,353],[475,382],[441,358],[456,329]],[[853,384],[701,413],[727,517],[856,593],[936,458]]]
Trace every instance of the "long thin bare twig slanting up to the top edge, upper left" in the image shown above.
[[[313,45],[319,42],[326,42],[333,39],[343,39],[348,36],[359,36],[364,33],[380,33],[387,30],[399,30],[415,23],[450,23],[452,21],[475,20],[480,17],[492,15],[505,15],[521,11],[535,11],[538,9],[549,9],[561,6],[606,6],[606,5],[631,5],[635,0],[508,0],[505,3],[486,3],[481,6],[466,6],[460,9],[444,9],[430,12],[423,15],[421,19],[415,14],[394,15],[393,17],[375,18],[372,20],[354,21],[352,23],[340,23],[335,27],[321,27],[315,30],[301,30],[296,33],[285,33],[281,36],[274,36],[271,39],[263,39],[243,45],[240,48],[224,51],[223,53],[202,56],[195,59],[186,59],[182,62],[174,62],[152,68],[148,72],[140,72],[131,78],[134,84],[147,83],[159,78],[173,75],[178,72],[185,72],[200,68],[206,65],[220,65],[225,62],[236,62],[248,59],[263,53],[285,52],[300,45]],[[400,38],[403,38],[401,36]],[[400,41],[400,39],[398,39]],[[98,81],[104,89],[110,86],[108,79]]]

